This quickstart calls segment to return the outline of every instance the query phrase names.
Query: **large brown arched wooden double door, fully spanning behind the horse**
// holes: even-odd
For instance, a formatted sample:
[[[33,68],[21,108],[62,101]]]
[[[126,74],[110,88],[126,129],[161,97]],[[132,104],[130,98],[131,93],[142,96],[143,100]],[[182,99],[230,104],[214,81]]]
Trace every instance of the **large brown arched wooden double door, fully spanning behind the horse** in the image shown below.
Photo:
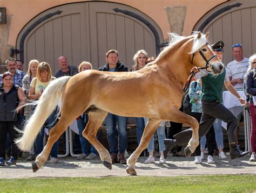
[[[115,10],[114,10],[115,9]],[[31,59],[47,61],[57,72],[57,58],[65,55],[70,65],[90,61],[98,69],[105,53],[117,49],[120,61],[131,68],[138,49],[156,56],[163,34],[144,13],[110,2],[83,2],[46,10],[24,26],[17,39],[25,67]]]

